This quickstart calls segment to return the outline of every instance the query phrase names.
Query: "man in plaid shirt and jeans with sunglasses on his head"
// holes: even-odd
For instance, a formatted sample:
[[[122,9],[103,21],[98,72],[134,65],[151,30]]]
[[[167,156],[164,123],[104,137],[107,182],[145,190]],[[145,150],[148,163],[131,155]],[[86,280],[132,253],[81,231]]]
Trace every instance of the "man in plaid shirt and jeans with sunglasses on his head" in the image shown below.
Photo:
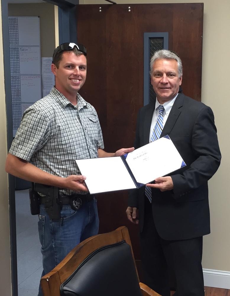
[[[75,159],[121,156],[103,151],[98,115],[78,91],[86,79],[86,48],[64,43],[54,50],[51,70],[55,86],[25,110],[6,161],[6,171],[25,180],[60,188],[60,219],[47,213],[46,197],[39,197],[39,239],[42,276],[51,271],[79,242],[98,234],[98,212],[88,193],[85,176]],[[41,286],[39,296],[43,295]]]

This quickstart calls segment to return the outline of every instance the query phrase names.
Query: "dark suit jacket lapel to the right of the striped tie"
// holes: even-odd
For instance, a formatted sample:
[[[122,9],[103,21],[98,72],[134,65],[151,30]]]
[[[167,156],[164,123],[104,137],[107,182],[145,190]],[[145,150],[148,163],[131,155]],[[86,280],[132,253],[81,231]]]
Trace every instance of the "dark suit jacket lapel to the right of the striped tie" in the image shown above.
[[[160,138],[170,134],[174,124],[176,123],[178,116],[181,113],[179,108],[183,106],[183,103],[184,103],[184,94],[179,93],[169,113],[169,118],[167,119],[164,125]]]

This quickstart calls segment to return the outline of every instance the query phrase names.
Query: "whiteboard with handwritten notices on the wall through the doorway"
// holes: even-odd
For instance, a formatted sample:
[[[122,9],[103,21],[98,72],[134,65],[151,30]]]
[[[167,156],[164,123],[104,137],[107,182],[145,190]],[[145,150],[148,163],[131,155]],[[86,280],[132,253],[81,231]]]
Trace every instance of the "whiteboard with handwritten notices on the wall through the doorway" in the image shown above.
[[[25,109],[42,97],[39,17],[9,17],[13,136]]]

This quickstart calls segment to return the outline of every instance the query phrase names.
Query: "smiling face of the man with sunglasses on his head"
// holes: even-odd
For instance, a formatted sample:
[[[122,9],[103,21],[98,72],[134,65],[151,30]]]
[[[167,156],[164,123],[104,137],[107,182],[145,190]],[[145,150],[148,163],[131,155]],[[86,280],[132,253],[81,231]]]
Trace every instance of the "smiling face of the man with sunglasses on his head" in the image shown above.
[[[54,64],[51,65],[56,89],[72,104],[76,104],[77,92],[85,83],[86,66],[84,54],[78,56],[72,51],[63,52],[58,68]]]

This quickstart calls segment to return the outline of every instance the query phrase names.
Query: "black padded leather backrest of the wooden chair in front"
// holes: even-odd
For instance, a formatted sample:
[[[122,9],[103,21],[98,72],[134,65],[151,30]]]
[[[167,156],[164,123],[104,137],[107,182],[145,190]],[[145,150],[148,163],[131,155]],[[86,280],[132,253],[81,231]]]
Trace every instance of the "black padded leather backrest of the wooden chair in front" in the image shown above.
[[[91,253],[61,285],[61,296],[142,296],[125,241]]]

